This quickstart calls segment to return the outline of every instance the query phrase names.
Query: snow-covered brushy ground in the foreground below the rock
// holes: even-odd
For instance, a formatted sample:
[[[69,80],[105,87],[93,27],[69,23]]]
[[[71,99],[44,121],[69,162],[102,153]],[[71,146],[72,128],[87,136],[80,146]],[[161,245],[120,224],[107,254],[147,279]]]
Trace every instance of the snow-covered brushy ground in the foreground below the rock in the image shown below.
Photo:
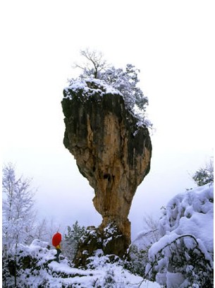
[[[50,287],[50,288],[156,288],[159,284],[143,280],[123,268],[123,262],[118,260],[110,263],[108,256],[97,255],[90,260],[89,268],[82,270],[73,265],[63,256],[60,263],[54,261],[55,249],[47,248],[46,242],[35,240],[30,246],[20,245],[20,263],[30,256],[31,262],[22,270],[18,277],[19,287]],[[25,264],[26,265],[26,264]],[[13,277],[10,284],[13,284]],[[25,286],[27,283],[27,286]]]

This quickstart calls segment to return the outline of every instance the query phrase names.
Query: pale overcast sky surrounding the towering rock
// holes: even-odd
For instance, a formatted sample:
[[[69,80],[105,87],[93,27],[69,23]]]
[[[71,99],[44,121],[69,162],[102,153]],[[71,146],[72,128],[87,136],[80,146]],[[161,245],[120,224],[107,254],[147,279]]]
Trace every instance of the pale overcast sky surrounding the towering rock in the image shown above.
[[[4,2],[4,3],[2,3]],[[97,226],[93,189],[63,147],[61,99],[79,51],[140,68],[152,169],[130,210],[133,237],[214,153],[214,1],[2,1],[3,163],[32,177],[40,217]]]

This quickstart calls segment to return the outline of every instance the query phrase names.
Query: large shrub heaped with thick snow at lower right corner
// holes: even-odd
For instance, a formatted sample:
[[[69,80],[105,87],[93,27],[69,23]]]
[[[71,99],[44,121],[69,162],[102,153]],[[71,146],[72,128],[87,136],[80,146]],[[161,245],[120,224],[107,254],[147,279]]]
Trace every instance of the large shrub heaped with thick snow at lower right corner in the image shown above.
[[[146,276],[166,287],[213,287],[214,186],[175,196],[160,220],[161,239],[149,249]]]

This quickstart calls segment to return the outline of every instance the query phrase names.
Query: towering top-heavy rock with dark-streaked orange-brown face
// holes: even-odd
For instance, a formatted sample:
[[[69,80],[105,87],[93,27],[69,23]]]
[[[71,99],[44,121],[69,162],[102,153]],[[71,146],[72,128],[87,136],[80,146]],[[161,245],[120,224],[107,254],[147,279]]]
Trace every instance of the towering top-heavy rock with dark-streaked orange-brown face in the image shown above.
[[[137,125],[117,91],[91,82],[73,85],[63,94],[63,143],[94,188],[94,207],[103,217],[99,231],[116,224],[125,252],[130,244],[130,205],[150,169],[149,132]]]

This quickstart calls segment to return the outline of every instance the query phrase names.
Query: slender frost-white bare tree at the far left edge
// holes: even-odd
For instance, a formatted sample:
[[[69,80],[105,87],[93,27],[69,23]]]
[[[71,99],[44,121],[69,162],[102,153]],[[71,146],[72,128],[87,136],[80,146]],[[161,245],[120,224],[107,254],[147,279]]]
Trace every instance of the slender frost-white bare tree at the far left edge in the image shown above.
[[[2,242],[3,260],[13,259],[16,287],[16,256],[18,244],[29,244],[32,241],[35,221],[34,191],[30,188],[31,179],[16,177],[13,164],[3,168],[2,179]],[[5,265],[4,265],[5,266]]]

